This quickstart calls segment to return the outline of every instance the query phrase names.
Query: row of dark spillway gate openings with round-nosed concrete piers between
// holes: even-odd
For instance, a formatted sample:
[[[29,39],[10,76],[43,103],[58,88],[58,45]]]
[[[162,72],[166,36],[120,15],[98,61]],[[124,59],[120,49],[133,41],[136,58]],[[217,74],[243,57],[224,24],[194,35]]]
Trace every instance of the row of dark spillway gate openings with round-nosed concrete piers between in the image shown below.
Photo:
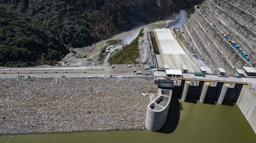
[[[171,79],[177,80],[177,79]],[[208,81],[205,80],[196,80],[196,79],[179,79],[175,83],[176,89],[173,89],[176,95],[179,95],[182,101],[186,101],[188,97],[193,97],[199,99],[201,103],[204,103],[205,99],[216,100],[219,104],[223,103],[223,100],[233,100],[237,101],[238,95],[241,91],[241,87],[244,82],[241,83],[225,83],[223,81]],[[232,84],[232,87],[229,87]],[[168,89],[163,87],[164,89]]]

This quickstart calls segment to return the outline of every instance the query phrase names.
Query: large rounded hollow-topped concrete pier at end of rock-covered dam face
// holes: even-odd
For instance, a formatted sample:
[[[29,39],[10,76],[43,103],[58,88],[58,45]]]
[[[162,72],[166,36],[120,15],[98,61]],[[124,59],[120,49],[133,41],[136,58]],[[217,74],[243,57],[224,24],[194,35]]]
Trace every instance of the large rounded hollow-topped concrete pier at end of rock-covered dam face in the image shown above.
[[[146,128],[150,131],[158,131],[167,119],[172,90],[158,89],[158,97],[147,108]]]

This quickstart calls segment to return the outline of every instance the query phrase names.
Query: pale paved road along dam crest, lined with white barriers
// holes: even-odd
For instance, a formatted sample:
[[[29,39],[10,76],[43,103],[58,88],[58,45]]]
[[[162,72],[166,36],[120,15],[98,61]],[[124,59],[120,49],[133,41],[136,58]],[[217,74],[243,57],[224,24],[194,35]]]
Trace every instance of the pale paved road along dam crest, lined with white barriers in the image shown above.
[[[0,77],[50,77],[50,76],[98,76],[98,75],[136,75],[133,70],[142,74],[147,73],[150,69],[145,70],[144,66],[83,66],[83,67],[36,67],[36,68],[6,68],[0,69]]]

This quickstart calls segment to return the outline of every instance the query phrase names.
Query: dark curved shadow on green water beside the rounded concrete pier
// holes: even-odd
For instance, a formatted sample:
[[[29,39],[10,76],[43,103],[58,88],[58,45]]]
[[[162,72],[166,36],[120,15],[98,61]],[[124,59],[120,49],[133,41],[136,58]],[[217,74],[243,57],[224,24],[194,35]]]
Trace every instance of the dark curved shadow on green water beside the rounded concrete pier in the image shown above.
[[[172,96],[166,122],[158,132],[172,133],[178,126],[180,110],[183,110],[182,103],[179,102],[178,97]]]

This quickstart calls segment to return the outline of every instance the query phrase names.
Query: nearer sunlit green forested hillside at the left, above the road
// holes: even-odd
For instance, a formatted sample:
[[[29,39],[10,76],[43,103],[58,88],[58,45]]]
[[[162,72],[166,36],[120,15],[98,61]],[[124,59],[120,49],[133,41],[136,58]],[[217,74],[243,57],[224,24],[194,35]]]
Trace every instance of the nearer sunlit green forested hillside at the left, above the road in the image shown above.
[[[67,52],[36,20],[0,5],[0,66],[56,63]]]

